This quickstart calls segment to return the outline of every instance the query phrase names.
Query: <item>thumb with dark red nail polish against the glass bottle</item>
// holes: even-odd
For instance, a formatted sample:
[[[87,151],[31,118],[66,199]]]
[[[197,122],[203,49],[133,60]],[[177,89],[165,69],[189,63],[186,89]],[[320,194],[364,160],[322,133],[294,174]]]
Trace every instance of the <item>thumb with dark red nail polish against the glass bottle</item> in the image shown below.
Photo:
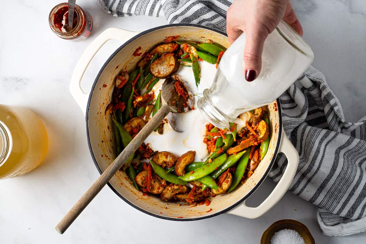
[[[244,72],[247,81],[253,81],[261,72],[262,52],[268,31],[247,31],[244,48]]]

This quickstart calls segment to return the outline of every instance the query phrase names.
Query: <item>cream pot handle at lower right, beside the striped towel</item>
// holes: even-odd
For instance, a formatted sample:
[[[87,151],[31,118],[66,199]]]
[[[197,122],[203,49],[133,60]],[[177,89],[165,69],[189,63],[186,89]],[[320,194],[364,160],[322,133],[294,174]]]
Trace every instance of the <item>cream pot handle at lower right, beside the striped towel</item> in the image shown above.
[[[287,166],[283,176],[277,183],[275,189],[269,194],[268,198],[264,200],[258,207],[248,207],[245,204],[240,204],[232,210],[227,211],[227,214],[234,214],[244,218],[258,218],[270,210],[275,204],[282,198],[282,196],[287,191],[292,180],[294,179],[296,169],[299,164],[299,154],[295,147],[292,146],[290,140],[287,138],[284,130],[282,129],[281,144],[279,148],[279,153],[284,153],[287,157]]]

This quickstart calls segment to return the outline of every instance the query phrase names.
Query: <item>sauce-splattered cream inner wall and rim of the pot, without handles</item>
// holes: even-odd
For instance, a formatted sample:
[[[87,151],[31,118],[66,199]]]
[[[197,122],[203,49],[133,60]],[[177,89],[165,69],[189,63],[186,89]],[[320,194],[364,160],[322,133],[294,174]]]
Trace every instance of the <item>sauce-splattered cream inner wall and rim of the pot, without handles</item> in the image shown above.
[[[141,46],[142,53],[163,42],[165,37],[179,35],[178,40],[207,42],[207,39],[224,47],[229,46],[228,38],[213,29],[197,26],[165,26],[145,31],[116,50],[101,69],[91,90],[87,108],[87,134],[92,157],[99,172],[103,172],[115,158],[115,145],[111,116],[105,116],[104,111],[110,103],[115,78],[121,71],[132,71],[141,57],[133,53]],[[193,74],[192,74],[193,75]],[[105,86],[107,85],[107,86]],[[277,101],[268,105],[271,124],[271,139],[268,153],[261,161],[254,174],[245,184],[239,185],[230,194],[221,194],[212,198],[209,206],[188,206],[174,202],[163,202],[155,196],[143,196],[129,182],[124,172],[118,172],[109,185],[123,200],[131,206],[156,217],[174,220],[193,220],[223,213],[246,199],[267,176],[272,166],[272,158],[277,152],[279,143],[280,117]],[[197,125],[204,126],[204,125]],[[203,140],[203,138],[197,138]],[[179,156],[179,155],[177,155]],[[210,210],[212,209],[212,210]]]

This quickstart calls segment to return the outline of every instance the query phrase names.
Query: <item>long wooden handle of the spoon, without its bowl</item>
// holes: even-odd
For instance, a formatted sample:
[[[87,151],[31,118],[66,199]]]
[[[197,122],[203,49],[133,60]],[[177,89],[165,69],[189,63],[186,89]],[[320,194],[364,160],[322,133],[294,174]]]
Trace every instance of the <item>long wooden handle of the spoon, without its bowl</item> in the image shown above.
[[[67,228],[74,222],[85,207],[93,200],[93,198],[100,192],[105,184],[113,177],[113,175],[122,167],[127,159],[134,153],[143,141],[153,132],[153,130],[160,124],[160,122],[171,112],[170,107],[165,104],[158,112],[149,120],[149,122],[141,129],[134,139],[127,145],[127,147],[120,153],[111,165],[101,174],[101,176],[94,182],[93,185],[85,192],[85,194],[78,200],[70,211],[61,219],[56,225],[56,230],[60,234],[64,233]]]

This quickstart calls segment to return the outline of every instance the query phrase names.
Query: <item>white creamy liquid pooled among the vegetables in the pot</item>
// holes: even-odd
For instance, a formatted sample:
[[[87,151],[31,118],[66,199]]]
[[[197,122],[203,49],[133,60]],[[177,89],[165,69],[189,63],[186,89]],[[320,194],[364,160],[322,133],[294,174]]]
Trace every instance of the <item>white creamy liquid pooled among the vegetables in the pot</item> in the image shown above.
[[[199,65],[201,66],[201,82],[199,83],[198,88],[195,85],[192,67],[180,66],[175,75],[187,85],[192,93],[202,97],[201,94],[203,93],[203,90],[211,87],[216,73],[216,65],[206,61],[199,62]],[[153,91],[155,91],[155,98],[158,96],[164,80],[165,79],[159,80],[154,86]],[[197,108],[199,97],[194,96],[194,108]],[[249,113],[244,113],[239,116],[236,121],[238,124],[238,131],[245,127],[245,122],[249,119],[249,116]],[[203,138],[206,131],[205,125],[209,124],[209,122],[201,112],[199,112],[198,108],[186,113],[176,113],[174,114],[174,117],[178,127],[184,129],[184,132],[176,132],[169,124],[164,124],[164,134],[160,135],[157,132],[152,132],[145,140],[145,143],[149,143],[149,146],[155,151],[169,151],[177,157],[187,151],[195,151],[195,161],[205,161],[209,153],[206,149],[206,144],[203,143]]]

